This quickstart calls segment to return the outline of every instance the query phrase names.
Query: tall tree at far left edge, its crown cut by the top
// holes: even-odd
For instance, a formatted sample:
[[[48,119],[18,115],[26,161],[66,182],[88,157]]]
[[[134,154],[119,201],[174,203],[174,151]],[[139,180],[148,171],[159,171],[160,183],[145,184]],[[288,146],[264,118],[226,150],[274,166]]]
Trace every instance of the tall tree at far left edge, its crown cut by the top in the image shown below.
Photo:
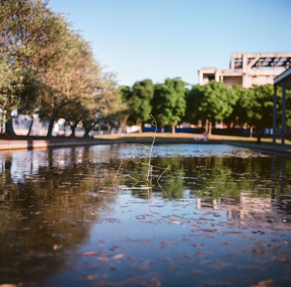
[[[14,133],[11,113],[19,105],[28,110],[36,101],[36,83],[40,82],[35,77],[43,70],[55,43],[55,36],[49,36],[54,18],[47,1],[0,1],[0,105],[7,133]]]

